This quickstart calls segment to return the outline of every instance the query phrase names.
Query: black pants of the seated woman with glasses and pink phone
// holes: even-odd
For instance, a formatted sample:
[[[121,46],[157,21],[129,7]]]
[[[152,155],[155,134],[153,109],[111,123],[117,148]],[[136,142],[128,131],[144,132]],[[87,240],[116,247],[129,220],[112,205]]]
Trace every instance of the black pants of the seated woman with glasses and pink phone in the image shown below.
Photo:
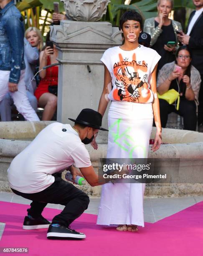
[[[170,105],[166,100],[159,99],[161,126],[166,127],[168,114],[175,112],[183,117],[185,130],[195,131],[197,125],[196,104],[194,100],[180,100],[179,110]]]

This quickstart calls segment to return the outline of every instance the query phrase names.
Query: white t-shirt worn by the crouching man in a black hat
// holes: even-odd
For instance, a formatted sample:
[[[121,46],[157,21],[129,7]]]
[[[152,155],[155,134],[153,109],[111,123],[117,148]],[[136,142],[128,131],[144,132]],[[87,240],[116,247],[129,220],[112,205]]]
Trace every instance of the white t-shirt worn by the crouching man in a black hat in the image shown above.
[[[8,181],[22,193],[40,192],[53,184],[51,174],[72,164],[77,168],[91,166],[89,153],[71,125],[52,123],[15,156],[8,168]]]

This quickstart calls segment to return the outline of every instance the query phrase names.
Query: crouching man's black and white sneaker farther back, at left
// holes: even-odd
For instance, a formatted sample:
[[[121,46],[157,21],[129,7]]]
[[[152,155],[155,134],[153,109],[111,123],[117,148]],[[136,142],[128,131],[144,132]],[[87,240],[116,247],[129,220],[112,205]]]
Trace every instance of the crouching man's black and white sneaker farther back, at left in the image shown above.
[[[50,221],[46,220],[43,216],[40,216],[34,220],[31,220],[28,216],[25,216],[23,222],[23,229],[38,229],[38,228],[48,228],[51,224]]]

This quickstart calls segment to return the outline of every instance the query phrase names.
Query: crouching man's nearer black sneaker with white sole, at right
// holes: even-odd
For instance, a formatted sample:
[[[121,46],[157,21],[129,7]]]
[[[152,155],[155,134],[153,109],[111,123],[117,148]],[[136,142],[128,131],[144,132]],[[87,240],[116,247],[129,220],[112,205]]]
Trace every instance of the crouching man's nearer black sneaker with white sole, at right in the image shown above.
[[[76,230],[66,228],[58,224],[52,224],[47,231],[47,238],[86,238],[85,234],[77,232]]]

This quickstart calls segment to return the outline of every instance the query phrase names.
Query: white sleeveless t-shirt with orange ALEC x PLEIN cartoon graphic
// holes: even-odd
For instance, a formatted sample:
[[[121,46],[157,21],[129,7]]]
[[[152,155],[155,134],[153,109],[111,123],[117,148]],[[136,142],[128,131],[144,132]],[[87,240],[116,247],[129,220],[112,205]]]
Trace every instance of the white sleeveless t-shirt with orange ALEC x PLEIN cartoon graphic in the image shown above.
[[[151,73],[160,58],[155,50],[142,45],[132,51],[124,51],[119,46],[107,49],[101,61],[112,77],[109,100],[152,102]]]

